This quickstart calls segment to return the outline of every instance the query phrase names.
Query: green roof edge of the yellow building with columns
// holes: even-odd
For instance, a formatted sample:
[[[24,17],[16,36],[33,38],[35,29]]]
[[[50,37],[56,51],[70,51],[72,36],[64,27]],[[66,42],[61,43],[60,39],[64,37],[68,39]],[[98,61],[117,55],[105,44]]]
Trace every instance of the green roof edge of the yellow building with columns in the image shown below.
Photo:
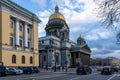
[[[24,13],[27,16],[30,16],[32,18],[34,18],[37,22],[41,22],[41,20],[38,18],[38,16],[34,13],[32,13],[31,11],[21,7],[20,5],[12,2],[11,0],[0,0],[0,3],[3,3],[4,5],[9,6],[10,8],[12,8],[13,10],[17,10],[20,13]]]

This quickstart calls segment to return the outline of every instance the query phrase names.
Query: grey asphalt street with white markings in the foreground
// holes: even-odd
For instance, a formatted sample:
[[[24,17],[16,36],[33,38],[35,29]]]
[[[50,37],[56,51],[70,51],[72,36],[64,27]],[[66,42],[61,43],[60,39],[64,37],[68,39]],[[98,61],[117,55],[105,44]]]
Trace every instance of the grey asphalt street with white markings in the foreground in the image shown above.
[[[0,77],[0,80],[120,80],[120,72],[112,75],[101,75],[99,71],[93,70],[92,74],[77,75],[76,69],[70,68],[67,72],[41,70],[37,74],[10,75]]]

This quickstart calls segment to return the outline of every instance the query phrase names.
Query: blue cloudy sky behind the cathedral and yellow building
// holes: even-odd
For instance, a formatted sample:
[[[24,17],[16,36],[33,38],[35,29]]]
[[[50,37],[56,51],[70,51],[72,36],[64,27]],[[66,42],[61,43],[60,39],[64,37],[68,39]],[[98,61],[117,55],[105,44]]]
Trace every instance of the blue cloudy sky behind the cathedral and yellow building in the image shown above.
[[[93,0],[12,0],[35,13],[42,22],[39,24],[39,37],[45,36],[45,25],[54,13],[57,4],[70,28],[70,39],[76,42],[81,34],[91,48],[91,57],[120,58],[120,45],[116,44],[116,32],[100,24],[96,17],[97,5]]]

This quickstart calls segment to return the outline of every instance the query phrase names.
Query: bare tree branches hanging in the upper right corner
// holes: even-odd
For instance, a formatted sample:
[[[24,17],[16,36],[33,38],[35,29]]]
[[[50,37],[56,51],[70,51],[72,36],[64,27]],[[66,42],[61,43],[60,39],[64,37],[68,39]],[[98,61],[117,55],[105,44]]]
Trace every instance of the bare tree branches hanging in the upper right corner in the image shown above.
[[[113,28],[117,32],[120,42],[120,0],[94,0],[98,5],[97,16],[101,18],[102,25]]]

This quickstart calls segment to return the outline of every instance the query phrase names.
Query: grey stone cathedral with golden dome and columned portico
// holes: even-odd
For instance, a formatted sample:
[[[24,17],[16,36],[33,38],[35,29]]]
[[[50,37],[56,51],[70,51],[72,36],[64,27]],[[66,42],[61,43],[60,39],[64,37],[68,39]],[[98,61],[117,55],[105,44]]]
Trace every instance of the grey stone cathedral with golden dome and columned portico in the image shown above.
[[[82,36],[78,37],[77,43],[69,39],[69,26],[57,5],[45,31],[46,36],[39,38],[40,67],[90,65],[90,48]]]

